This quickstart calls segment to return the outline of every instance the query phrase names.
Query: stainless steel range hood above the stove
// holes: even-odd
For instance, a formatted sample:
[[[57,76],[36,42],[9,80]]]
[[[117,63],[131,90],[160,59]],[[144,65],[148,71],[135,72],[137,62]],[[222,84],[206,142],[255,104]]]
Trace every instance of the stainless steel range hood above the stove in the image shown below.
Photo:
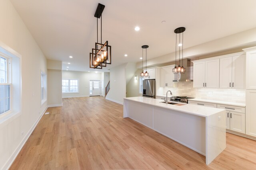
[[[182,61],[180,61],[182,64]],[[184,74],[174,74],[173,82],[192,82],[191,78],[191,59],[183,59],[183,66],[186,68],[186,72]]]

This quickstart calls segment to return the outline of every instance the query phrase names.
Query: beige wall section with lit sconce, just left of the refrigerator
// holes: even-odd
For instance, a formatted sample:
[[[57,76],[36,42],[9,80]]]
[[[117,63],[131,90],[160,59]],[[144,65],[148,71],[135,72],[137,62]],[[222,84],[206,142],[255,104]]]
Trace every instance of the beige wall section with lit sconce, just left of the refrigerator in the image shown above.
[[[126,85],[127,98],[142,96],[142,94],[140,94],[140,73],[141,69],[138,69]],[[134,76],[137,76],[137,80],[135,80]]]

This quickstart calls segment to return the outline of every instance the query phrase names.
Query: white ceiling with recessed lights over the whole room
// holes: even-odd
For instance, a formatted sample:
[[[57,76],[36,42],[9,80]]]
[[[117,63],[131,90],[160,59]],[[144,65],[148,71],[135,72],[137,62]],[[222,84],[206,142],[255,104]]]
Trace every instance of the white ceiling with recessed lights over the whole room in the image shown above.
[[[139,62],[142,45],[149,45],[148,59],[174,52],[177,27],[186,27],[184,48],[256,27],[256,0],[10,1],[47,59],[77,71],[93,70],[89,53],[96,42],[98,3],[105,5],[102,41],[112,46],[112,64],[104,70]],[[134,31],[135,26],[140,31]]]

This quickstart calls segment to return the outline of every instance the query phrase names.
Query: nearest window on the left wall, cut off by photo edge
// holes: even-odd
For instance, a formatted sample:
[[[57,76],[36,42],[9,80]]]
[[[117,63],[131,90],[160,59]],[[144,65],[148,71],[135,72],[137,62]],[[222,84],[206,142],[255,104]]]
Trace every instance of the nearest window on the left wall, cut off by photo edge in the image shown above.
[[[0,114],[10,110],[10,93],[11,84],[8,59],[0,56]]]

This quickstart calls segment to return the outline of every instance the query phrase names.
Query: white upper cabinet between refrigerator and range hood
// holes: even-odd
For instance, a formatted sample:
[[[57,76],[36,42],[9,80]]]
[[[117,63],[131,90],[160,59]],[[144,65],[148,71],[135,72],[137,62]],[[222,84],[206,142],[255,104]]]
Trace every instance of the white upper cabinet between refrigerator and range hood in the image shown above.
[[[160,68],[160,87],[173,87],[174,74],[172,68],[174,68],[174,65]]]

